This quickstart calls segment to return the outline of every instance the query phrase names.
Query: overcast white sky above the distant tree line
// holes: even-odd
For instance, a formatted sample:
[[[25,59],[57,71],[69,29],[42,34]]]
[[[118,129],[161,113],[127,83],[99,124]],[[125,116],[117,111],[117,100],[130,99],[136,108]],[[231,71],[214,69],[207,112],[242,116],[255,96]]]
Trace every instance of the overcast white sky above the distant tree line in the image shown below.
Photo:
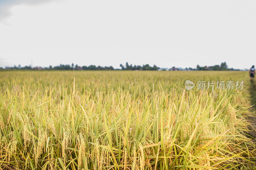
[[[256,64],[255,0],[0,0],[0,67]]]

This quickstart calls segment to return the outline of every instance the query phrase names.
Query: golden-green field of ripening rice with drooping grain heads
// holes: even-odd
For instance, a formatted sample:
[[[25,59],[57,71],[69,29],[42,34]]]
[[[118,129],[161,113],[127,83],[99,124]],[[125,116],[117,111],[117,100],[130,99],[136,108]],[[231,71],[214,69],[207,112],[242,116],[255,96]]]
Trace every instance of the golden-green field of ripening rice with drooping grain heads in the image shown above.
[[[243,71],[1,71],[0,170],[252,169],[250,87]]]

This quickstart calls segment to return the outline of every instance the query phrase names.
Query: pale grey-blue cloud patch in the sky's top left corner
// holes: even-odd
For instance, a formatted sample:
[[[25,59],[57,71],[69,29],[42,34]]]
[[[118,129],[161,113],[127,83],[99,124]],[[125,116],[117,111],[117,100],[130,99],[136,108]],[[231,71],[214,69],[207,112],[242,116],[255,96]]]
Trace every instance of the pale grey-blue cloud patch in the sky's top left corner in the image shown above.
[[[53,0],[1,0],[0,1],[0,22],[12,15],[12,7],[16,5],[38,5]]]

